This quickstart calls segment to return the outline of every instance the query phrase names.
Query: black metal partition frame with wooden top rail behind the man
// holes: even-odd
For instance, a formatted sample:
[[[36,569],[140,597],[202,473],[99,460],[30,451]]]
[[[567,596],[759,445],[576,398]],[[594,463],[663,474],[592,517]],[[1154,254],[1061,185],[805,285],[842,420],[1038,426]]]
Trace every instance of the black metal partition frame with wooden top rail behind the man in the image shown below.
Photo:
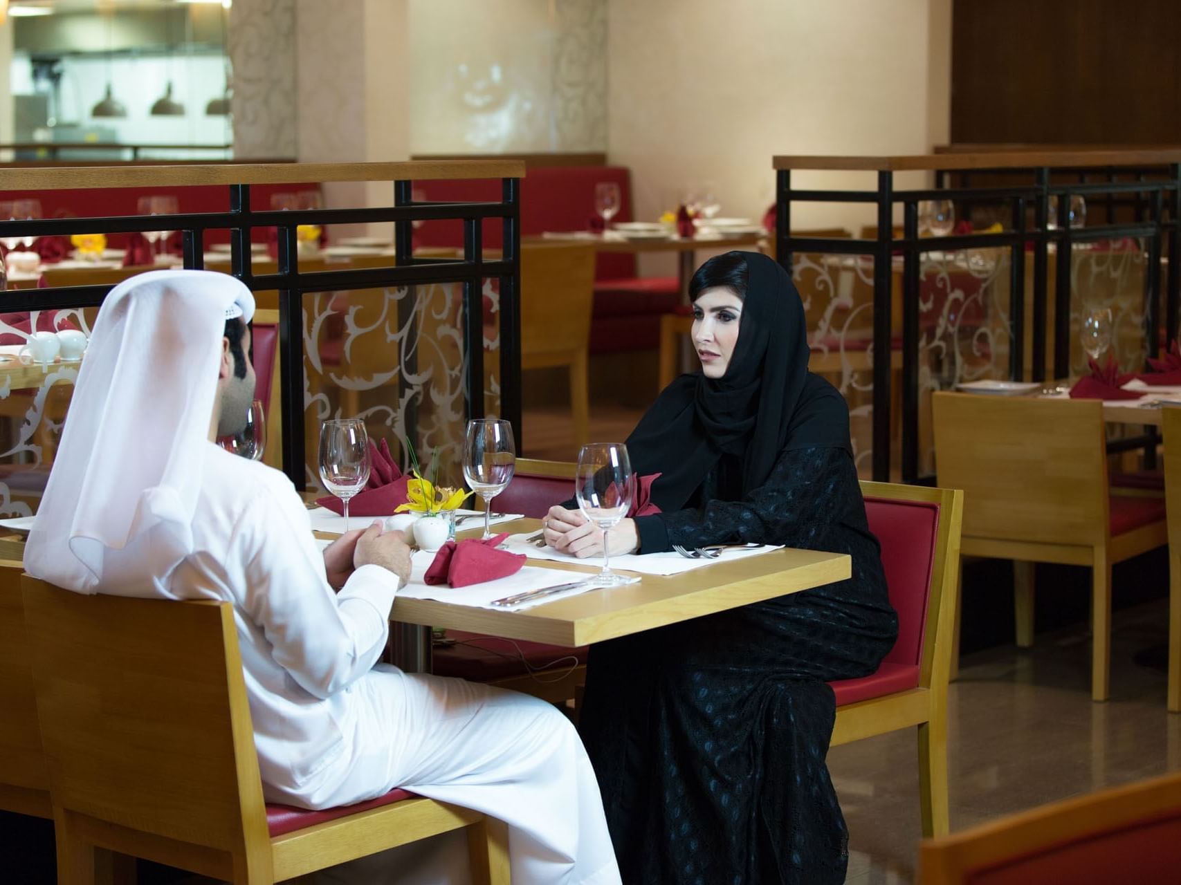
[[[483,280],[500,284],[501,412],[513,425],[517,445],[521,437],[521,271],[520,160],[437,160],[352,164],[216,164],[171,166],[86,166],[61,169],[0,170],[0,191],[71,190],[115,188],[227,188],[228,210],[182,212],[168,224],[182,232],[185,268],[204,266],[203,234],[230,231],[230,273],[252,290],[279,290],[280,408],[282,411],[283,471],[296,489],[305,486],[304,439],[304,320],[302,297],[309,293],[348,289],[413,287],[426,283],[462,283],[466,365],[468,418],[483,415]],[[415,202],[415,181],[488,179],[502,182],[498,202]],[[306,182],[391,182],[393,203],[378,208],[255,211],[250,208],[252,184]],[[500,218],[503,250],[500,258],[485,260],[482,222]],[[411,232],[415,221],[459,219],[463,222],[463,257],[415,257]],[[296,227],[300,224],[358,224],[394,222],[394,258],[390,267],[300,271]],[[159,217],[111,216],[0,221],[0,237],[70,236],[72,234],[143,232],[158,230]],[[276,273],[255,274],[252,268],[250,232],[278,229]],[[0,293],[0,310],[54,310],[102,304],[112,286],[73,286],[17,289]],[[407,420],[407,428],[413,422]]]

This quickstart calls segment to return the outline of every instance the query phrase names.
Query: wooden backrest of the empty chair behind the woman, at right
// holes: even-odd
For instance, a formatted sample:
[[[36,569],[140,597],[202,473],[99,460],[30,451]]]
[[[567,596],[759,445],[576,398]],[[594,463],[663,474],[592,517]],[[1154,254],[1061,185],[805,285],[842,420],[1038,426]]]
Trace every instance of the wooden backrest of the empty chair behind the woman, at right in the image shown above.
[[[964,536],[1098,546],[1109,504],[1103,404],[935,393],[939,484],[964,490]]]

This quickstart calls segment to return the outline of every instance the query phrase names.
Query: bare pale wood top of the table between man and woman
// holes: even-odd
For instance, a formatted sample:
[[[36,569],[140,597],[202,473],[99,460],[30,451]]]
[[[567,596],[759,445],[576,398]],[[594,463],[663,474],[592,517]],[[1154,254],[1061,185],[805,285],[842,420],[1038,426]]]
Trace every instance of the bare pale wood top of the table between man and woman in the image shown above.
[[[540,519],[517,519],[502,523],[496,530],[535,531],[540,525]],[[461,537],[478,537],[479,532],[461,532]],[[598,571],[593,566],[568,566],[547,559],[530,559],[529,565],[552,568],[563,575]],[[590,590],[524,611],[494,611],[399,596],[391,617],[411,624],[575,647],[810,590],[843,581],[850,573],[846,553],[785,549],[718,562],[680,575],[644,575],[638,584]]]

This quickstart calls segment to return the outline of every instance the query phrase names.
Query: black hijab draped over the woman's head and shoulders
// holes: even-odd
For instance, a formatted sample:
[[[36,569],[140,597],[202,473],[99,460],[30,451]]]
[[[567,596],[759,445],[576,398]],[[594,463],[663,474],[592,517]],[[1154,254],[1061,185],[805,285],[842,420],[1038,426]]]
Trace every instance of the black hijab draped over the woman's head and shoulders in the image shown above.
[[[748,284],[725,374],[681,375],[627,438],[632,470],[661,474],[652,500],[664,511],[684,507],[723,454],[742,459],[745,496],[784,450],[853,451],[844,398],[808,372],[804,309],[791,277],[759,253],[729,255],[745,260]]]

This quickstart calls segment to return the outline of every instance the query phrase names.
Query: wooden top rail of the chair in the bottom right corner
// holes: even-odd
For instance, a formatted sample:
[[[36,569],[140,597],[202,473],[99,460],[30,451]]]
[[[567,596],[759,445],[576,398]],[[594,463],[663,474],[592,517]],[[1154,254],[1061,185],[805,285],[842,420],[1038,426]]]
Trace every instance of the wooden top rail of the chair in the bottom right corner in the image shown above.
[[[1177,817],[1179,808],[1179,773],[1052,802],[953,835],[924,840],[919,847],[919,881],[965,885],[976,873],[1005,860],[1134,828],[1161,817]]]

